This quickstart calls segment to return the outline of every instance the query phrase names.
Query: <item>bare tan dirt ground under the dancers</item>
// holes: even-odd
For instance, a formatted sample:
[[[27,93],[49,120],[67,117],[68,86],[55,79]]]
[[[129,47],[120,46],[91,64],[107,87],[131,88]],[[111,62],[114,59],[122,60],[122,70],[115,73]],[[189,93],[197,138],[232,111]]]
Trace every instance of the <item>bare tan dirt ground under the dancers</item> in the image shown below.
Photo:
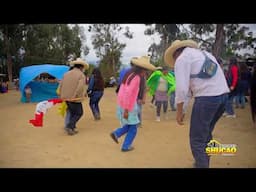
[[[20,93],[11,90],[0,94],[0,167],[1,168],[191,168],[193,157],[189,146],[189,120],[185,125],[169,119],[155,121],[150,97],[143,106],[143,127],[138,128],[135,150],[121,152],[121,143],[112,141],[109,133],[119,127],[116,119],[114,88],[105,89],[100,102],[102,119],[94,121],[88,99],[84,115],[77,124],[79,133],[68,136],[64,119],[57,114],[58,105],[44,116],[44,126],[28,123],[34,118],[36,103],[20,103]],[[191,103],[192,104],[192,103]],[[235,156],[213,156],[211,168],[255,168],[256,129],[252,127],[250,108],[236,109],[237,118],[222,117],[213,136],[222,144],[237,144]]]

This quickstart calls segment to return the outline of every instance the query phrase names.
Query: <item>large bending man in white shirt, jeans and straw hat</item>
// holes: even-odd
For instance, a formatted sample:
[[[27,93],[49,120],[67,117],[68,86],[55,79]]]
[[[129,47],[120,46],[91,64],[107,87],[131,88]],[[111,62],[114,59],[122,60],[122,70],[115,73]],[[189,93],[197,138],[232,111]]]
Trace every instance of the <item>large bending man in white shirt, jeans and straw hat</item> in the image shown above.
[[[206,56],[217,64],[217,71],[210,78],[192,78],[198,74]],[[229,88],[220,65],[215,57],[202,52],[192,40],[176,40],[165,51],[164,60],[174,66],[176,77],[176,120],[183,125],[183,105],[189,93],[195,97],[190,121],[190,146],[195,159],[194,167],[209,168],[210,158],[205,152],[207,143],[212,139],[216,122],[224,112]],[[186,108],[186,106],[185,106]]]

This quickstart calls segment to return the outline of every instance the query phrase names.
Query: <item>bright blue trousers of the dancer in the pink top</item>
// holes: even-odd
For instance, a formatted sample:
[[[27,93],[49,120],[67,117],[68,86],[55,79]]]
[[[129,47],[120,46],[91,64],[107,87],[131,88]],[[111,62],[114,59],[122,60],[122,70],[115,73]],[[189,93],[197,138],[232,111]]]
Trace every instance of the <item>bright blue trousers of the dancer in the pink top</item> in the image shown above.
[[[124,143],[122,145],[122,149],[127,150],[131,147],[132,142],[137,134],[137,125],[126,124],[123,127],[116,129],[113,133],[118,138],[127,133],[124,139]]]

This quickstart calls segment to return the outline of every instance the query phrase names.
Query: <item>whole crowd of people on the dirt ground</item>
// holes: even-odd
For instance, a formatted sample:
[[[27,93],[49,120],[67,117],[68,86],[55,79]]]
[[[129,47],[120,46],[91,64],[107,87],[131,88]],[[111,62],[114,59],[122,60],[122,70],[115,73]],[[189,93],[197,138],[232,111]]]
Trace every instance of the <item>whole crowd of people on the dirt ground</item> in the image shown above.
[[[155,121],[168,119],[170,110],[176,112],[176,121],[184,125],[189,101],[194,98],[191,113],[189,141],[195,168],[210,167],[210,156],[205,152],[212,140],[212,132],[222,116],[236,118],[236,108],[245,108],[250,101],[252,119],[256,121],[256,66],[253,72],[246,64],[238,65],[237,58],[229,59],[225,70],[223,61],[212,53],[200,49],[193,40],[176,40],[164,54],[161,67],[150,63],[148,56],[134,57],[130,67],[120,71],[119,79],[111,79],[116,85],[117,119],[120,127],[110,133],[111,139],[119,143],[125,136],[121,151],[134,150],[133,142],[139,127],[142,127],[142,106],[146,95],[152,97]],[[86,61],[77,58],[71,61],[70,70],[60,81],[58,94],[66,104],[64,129],[68,135],[78,133],[77,122],[84,114],[82,102],[87,96],[95,121],[102,118],[100,101],[104,96],[105,81],[99,68],[95,67],[87,79],[84,72],[89,69]],[[51,81],[56,79],[49,78]],[[86,84],[88,87],[86,88]],[[5,87],[2,83],[1,88]],[[27,102],[32,90],[26,86]],[[246,96],[250,96],[248,99]],[[163,114],[161,115],[161,109]]]

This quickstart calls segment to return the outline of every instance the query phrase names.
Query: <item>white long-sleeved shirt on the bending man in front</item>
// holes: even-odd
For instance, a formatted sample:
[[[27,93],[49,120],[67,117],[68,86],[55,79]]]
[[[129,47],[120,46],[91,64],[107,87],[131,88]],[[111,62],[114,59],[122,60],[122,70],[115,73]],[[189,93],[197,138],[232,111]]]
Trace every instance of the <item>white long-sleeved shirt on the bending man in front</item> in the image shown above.
[[[207,56],[218,63],[213,55]],[[229,92],[224,73],[218,64],[216,74],[208,79],[190,78],[201,70],[205,56],[200,49],[186,47],[176,59],[174,70],[176,78],[176,103],[187,102],[188,94],[192,96],[218,96]]]

